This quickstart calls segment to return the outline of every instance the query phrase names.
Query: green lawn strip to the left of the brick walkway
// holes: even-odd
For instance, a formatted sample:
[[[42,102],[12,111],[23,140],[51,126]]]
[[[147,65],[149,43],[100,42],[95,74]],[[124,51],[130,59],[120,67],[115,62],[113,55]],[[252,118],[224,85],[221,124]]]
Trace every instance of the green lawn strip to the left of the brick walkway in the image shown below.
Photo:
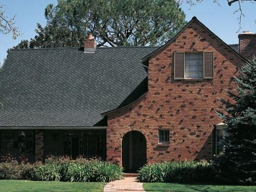
[[[106,183],[0,180],[0,192],[102,192]]]

